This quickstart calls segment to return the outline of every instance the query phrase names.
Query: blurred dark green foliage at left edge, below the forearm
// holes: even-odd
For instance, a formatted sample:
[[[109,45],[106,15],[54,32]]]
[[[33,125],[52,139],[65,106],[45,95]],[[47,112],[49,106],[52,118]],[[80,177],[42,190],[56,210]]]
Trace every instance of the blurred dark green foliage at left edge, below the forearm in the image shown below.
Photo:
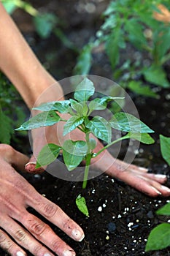
[[[23,109],[15,105],[15,102],[20,100],[22,99],[18,91],[0,72],[0,143],[9,144],[15,127],[26,118]]]

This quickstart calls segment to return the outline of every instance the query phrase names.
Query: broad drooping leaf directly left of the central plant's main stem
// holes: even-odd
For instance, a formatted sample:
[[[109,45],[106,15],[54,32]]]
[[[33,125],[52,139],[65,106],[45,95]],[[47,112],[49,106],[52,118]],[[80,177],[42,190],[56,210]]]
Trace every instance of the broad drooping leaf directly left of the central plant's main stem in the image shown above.
[[[75,167],[80,165],[88,151],[88,146],[84,140],[65,140],[62,148],[63,161],[68,170],[74,170]]]

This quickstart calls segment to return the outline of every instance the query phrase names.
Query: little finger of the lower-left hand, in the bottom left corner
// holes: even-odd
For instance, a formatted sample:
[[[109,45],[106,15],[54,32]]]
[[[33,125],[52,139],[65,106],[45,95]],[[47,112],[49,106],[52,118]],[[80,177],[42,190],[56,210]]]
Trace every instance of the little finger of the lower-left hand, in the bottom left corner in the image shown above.
[[[18,246],[18,244],[15,244],[14,241],[12,241],[9,236],[7,236],[4,231],[0,229],[0,247],[1,249],[4,249],[4,251],[8,252],[9,255],[14,256],[25,256],[26,252],[23,251],[23,249]]]

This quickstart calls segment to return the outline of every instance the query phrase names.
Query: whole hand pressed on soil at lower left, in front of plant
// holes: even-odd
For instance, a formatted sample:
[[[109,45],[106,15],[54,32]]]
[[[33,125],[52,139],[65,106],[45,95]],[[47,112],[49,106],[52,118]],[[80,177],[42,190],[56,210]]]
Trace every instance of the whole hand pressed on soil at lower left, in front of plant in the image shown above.
[[[23,170],[26,162],[28,157],[25,155],[11,146],[0,145],[1,248],[13,256],[26,255],[21,246],[35,256],[54,255],[49,249],[59,256],[75,255],[74,250],[56,236],[45,222],[26,210],[31,206],[76,241],[82,241],[84,238],[81,227],[64,214],[61,208],[36,192],[15,170]]]

